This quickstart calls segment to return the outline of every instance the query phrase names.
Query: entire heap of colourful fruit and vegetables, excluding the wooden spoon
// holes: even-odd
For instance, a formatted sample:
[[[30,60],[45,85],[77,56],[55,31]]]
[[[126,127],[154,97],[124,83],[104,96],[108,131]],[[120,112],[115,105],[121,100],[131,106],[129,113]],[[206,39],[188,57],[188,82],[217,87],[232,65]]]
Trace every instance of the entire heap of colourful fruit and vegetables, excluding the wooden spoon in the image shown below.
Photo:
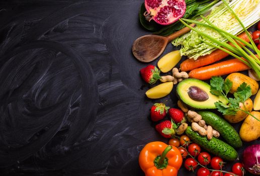
[[[150,109],[155,130],[169,141],[150,142],[141,150],[139,165],[146,176],[178,175],[182,165],[198,176],[260,174],[260,144],[244,149],[243,157],[231,170],[225,169],[226,162],[238,159],[237,149],[243,142],[260,137],[260,1],[221,2],[220,5],[218,1],[186,1],[184,5],[182,0],[145,0],[145,8],[152,16],[149,18],[154,20],[151,24],[143,21],[144,7],[140,10],[141,24],[151,31],[160,29],[157,34],[169,35],[175,27],[191,29],[172,42],[183,45],[180,51],[161,57],[158,68],[149,64],[140,69],[142,79],[154,84],[145,93],[148,99],[175,94],[172,93],[175,85],[179,99],[178,107],[168,107],[158,100]],[[218,6],[214,6],[216,3]],[[200,4],[204,8],[199,10]],[[157,18],[166,7],[172,11],[165,14],[167,20],[163,22],[172,24],[156,26],[155,22],[166,25]],[[180,15],[184,7],[186,13]],[[208,17],[200,16],[210,8]],[[179,16],[173,19],[172,14],[178,12]],[[257,22],[259,31],[250,34],[246,28]],[[197,26],[189,26],[191,23]],[[187,59],[178,68],[182,55],[197,60]],[[234,58],[220,61],[229,55]],[[239,72],[243,70],[248,70],[248,74]],[[224,79],[222,75],[227,76]],[[238,132],[233,123],[241,123]]]

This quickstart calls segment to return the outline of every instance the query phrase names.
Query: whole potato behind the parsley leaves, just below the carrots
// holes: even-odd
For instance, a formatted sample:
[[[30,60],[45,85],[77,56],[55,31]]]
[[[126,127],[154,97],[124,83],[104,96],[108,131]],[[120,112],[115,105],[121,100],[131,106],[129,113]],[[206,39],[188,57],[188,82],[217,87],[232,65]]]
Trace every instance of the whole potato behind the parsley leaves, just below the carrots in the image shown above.
[[[243,82],[251,86],[252,95],[255,95],[257,93],[259,85],[255,80],[253,80],[249,76],[246,76],[241,73],[231,73],[226,77],[226,79],[229,79],[231,82],[233,82],[231,90],[229,91],[229,93],[231,94],[234,94],[234,92],[236,92],[237,90],[237,87],[239,87],[239,85]]]

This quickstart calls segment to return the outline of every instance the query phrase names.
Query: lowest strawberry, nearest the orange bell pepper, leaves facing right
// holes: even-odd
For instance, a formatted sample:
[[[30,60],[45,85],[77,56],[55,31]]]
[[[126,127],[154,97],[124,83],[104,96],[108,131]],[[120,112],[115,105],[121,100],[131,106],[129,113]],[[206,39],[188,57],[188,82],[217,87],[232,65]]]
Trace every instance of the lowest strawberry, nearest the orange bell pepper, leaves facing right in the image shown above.
[[[177,125],[169,120],[165,120],[155,126],[155,129],[165,138],[175,135]]]

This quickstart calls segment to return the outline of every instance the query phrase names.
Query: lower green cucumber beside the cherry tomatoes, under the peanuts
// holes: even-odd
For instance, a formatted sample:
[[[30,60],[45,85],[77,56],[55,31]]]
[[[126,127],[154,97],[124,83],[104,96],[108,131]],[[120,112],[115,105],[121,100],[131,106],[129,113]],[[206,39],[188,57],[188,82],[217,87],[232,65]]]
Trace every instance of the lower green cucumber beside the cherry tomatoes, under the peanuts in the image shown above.
[[[185,130],[185,133],[193,142],[224,160],[234,161],[238,157],[233,147],[218,138],[212,137],[212,139],[208,140],[207,136],[201,136],[199,133],[193,131],[190,126]]]

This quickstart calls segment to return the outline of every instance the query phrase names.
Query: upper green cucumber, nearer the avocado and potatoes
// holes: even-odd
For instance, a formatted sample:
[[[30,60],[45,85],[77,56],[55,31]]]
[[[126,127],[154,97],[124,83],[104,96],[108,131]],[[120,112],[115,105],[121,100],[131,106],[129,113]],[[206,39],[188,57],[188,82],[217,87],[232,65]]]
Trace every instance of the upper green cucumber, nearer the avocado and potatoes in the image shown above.
[[[210,111],[198,111],[207,125],[217,130],[225,141],[234,148],[242,146],[242,141],[236,130],[223,118]]]

